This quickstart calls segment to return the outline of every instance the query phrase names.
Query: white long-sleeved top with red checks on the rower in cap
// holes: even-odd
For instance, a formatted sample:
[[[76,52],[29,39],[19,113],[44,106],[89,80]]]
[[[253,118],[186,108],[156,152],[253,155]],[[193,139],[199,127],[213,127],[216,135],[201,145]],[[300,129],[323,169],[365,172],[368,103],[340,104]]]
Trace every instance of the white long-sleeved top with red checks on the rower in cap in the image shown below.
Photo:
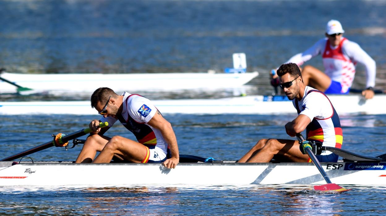
[[[330,53],[331,51],[335,51],[334,55]],[[342,85],[342,93],[347,92],[351,87],[357,63],[361,63],[366,68],[366,88],[375,86],[375,61],[357,43],[345,37],[342,37],[341,43],[336,47],[332,47],[327,38],[320,39],[303,53],[291,57],[286,63],[301,66],[319,54],[323,55],[325,73],[331,80]]]

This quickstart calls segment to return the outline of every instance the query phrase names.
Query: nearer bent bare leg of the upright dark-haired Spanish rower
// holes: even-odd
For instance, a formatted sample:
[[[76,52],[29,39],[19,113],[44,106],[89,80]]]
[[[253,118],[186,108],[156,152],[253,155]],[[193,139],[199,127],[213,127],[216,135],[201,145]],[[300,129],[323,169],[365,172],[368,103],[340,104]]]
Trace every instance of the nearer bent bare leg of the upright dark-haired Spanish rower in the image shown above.
[[[307,162],[308,155],[300,152],[298,141],[289,139],[266,139],[264,147],[249,158],[247,163],[267,163],[278,155],[291,162]]]

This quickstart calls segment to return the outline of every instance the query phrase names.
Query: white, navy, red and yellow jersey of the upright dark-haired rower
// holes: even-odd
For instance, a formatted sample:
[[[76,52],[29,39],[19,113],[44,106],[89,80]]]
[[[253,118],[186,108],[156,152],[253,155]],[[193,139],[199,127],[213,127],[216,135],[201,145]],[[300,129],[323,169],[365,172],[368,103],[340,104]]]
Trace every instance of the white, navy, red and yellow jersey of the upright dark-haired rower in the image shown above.
[[[320,142],[323,146],[341,148],[343,133],[339,116],[323,92],[306,86],[303,98],[300,101],[295,98],[292,102],[299,115],[303,114],[311,119],[306,127],[307,140]],[[329,154],[330,151],[322,153]]]

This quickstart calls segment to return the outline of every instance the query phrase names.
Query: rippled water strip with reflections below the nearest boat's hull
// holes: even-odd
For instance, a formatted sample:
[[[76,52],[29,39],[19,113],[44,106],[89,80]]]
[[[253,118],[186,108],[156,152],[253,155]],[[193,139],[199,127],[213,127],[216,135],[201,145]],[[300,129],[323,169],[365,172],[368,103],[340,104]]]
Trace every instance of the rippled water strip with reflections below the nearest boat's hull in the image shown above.
[[[14,189],[2,193],[3,213],[13,214],[340,214],[369,209],[382,214],[385,187],[345,186],[318,194],[312,185],[149,186]],[[17,200],[17,202],[15,202]],[[361,203],[361,205],[358,205]],[[52,208],[52,206],[55,206]]]

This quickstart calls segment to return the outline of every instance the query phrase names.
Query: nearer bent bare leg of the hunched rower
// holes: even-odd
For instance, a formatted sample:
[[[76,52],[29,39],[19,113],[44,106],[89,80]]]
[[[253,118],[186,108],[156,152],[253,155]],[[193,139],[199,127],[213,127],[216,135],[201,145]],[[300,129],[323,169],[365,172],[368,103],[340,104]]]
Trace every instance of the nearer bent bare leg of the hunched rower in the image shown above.
[[[127,161],[141,163],[147,154],[147,147],[122,136],[113,136],[93,163],[110,163],[114,155]]]

